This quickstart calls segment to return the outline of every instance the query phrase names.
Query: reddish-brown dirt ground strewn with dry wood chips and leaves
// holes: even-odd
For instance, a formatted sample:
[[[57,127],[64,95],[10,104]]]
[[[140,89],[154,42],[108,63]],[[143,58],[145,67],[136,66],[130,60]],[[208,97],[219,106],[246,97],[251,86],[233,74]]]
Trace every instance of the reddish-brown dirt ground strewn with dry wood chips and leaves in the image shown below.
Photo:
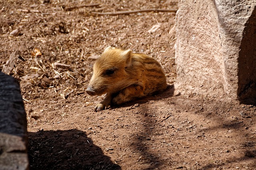
[[[148,8],[177,9],[178,1],[1,2],[0,64],[14,55],[31,170],[256,169],[255,106],[173,95],[175,12],[93,13]],[[168,90],[94,112],[104,96],[85,89],[108,46],[154,57]]]

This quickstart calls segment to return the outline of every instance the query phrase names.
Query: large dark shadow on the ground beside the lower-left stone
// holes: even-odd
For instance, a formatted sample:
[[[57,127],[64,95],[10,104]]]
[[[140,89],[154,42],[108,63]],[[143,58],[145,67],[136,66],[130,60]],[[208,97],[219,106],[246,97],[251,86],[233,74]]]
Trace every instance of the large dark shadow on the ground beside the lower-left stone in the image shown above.
[[[28,132],[30,170],[120,170],[86,133],[66,131]]]

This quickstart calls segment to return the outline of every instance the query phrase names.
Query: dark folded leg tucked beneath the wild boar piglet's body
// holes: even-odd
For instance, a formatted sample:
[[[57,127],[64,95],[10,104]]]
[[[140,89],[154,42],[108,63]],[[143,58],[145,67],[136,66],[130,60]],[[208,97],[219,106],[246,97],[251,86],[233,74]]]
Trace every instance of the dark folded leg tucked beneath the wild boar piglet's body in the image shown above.
[[[144,87],[133,84],[124,88],[116,97],[113,98],[112,104],[120,105],[124,102],[133,100],[134,98],[140,98],[146,96],[144,93]]]

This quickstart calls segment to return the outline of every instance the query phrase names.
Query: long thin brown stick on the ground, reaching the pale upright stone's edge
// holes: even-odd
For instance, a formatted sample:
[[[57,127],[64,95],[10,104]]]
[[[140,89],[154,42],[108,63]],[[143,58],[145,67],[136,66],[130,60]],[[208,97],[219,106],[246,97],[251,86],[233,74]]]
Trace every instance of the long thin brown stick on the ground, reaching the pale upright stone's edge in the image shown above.
[[[150,9],[120,11],[120,12],[92,12],[92,14],[96,14],[96,15],[99,15],[99,16],[103,16],[103,15],[116,16],[116,15],[134,14],[134,13],[138,13],[138,12],[177,12],[177,10],[150,8]]]

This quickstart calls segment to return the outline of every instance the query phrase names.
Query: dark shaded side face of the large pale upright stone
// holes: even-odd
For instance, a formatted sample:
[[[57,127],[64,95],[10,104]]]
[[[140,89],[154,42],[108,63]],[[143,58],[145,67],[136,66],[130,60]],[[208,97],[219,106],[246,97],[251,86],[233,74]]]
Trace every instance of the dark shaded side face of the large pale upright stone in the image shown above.
[[[256,104],[256,8],[245,24],[238,57],[238,98]]]

